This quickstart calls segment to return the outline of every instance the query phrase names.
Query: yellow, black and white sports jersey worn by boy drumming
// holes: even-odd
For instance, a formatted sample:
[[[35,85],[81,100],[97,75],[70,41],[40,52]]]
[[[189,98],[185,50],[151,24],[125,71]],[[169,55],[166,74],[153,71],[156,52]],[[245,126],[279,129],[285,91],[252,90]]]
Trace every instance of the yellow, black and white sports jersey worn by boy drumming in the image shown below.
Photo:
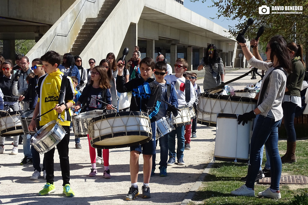
[[[59,92],[62,82],[63,73],[58,69],[54,73],[49,73],[41,76],[36,86],[36,93],[38,94],[39,102],[39,113],[43,114],[54,108],[56,104],[59,104]],[[73,102],[74,96],[77,92],[74,89],[73,81],[70,77],[67,77],[67,82],[64,91],[65,103]],[[62,103],[62,102],[60,102]],[[70,126],[71,123],[71,112],[70,109],[65,109],[61,113],[61,117],[64,122],[59,122],[63,126]],[[58,112],[55,110],[43,115],[39,119],[40,126],[47,124],[52,120],[58,119]]]

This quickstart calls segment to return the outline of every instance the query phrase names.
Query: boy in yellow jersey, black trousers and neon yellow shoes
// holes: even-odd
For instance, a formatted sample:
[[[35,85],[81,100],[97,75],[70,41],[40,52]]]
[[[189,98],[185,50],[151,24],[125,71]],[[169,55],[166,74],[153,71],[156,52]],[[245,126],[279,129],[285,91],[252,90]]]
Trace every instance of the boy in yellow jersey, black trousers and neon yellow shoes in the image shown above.
[[[70,108],[73,105],[74,95],[76,91],[74,89],[73,81],[70,77],[66,78],[66,86],[64,93],[65,104],[59,106],[59,96],[60,96],[60,87],[63,78],[63,73],[58,69],[60,65],[60,55],[55,51],[48,51],[45,53],[41,60],[43,61],[45,75],[39,78],[38,85],[36,87],[36,93],[39,96],[38,102],[34,109],[34,114],[32,121],[29,125],[30,130],[35,129],[34,118],[38,114],[42,114],[53,108],[54,110],[41,116],[39,118],[39,124],[43,127],[45,124],[51,122],[52,120],[58,119],[58,114],[61,113],[62,119],[64,122],[59,121],[60,125],[66,131],[66,135],[63,137],[61,142],[57,144],[57,150],[60,158],[60,167],[62,172],[63,179],[63,194],[67,197],[75,196],[74,191],[70,187],[70,162],[68,158],[68,143],[70,140],[70,123],[71,123],[71,112]],[[45,168],[46,168],[46,184],[43,187],[43,190],[39,192],[39,195],[47,195],[49,193],[55,192],[54,185],[54,153],[55,148],[44,154],[45,159]]]

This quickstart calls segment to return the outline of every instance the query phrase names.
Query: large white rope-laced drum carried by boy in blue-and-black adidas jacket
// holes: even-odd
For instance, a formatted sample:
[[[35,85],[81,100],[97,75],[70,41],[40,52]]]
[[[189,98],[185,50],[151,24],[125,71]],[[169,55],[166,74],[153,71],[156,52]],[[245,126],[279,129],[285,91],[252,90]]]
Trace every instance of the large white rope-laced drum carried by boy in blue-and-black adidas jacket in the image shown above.
[[[152,139],[150,118],[145,112],[116,112],[98,116],[89,125],[91,146],[111,149],[144,144]]]

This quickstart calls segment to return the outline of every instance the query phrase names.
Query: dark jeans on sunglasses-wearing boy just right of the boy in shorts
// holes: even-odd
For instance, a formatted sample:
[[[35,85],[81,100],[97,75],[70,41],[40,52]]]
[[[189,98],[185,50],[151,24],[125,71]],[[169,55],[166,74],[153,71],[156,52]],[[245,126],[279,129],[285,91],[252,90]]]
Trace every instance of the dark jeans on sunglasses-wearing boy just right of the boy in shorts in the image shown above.
[[[168,134],[165,134],[164,136],[160,137],[159,140],[159,146],[160,146],[160,162],[159,162],[159,169],[165,167],[167,168],[167,161],[168,161]],[[157,140],[156,140],[156,147],[157,147]],[[155,148],[156,148],[155,147]],[[155,170],[155,160],[156,160],[156,154],[152,156],[152,169]]]

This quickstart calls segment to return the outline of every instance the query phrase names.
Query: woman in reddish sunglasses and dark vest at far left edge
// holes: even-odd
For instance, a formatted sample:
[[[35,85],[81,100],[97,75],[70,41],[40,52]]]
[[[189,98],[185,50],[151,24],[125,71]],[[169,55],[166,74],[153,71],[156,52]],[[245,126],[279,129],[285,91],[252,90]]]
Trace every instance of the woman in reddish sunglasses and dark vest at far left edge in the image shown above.
[[[13,63],[11,60],[5,60],[2,64],[2,73],[3,76],[0,76],[0,89],[2,90],[2,93],[4,95],[3,101],[5,106],[4,109],[10,108],[13,109],[13,111],[18,111],[18,98],[13,95],[13,82],[14,82],[14,74],[13,74]],[[13,143],[13,149],[11,152],[11,155],[17,155],[18,154],[18,140],[19,136],[14,136],[14,143]],[[5,137],[0,137],[0,154],[5,152],[4,149],[4,140]]]

